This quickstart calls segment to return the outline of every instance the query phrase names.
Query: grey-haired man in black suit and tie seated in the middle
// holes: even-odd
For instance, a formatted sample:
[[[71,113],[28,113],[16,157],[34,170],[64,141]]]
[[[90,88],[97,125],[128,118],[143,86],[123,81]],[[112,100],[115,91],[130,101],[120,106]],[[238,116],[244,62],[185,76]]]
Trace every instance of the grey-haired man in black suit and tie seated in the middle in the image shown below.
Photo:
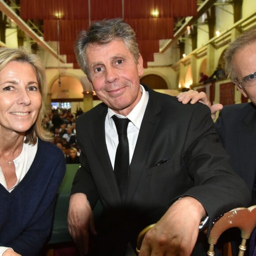
[[[122,19],[82,31],[76,56],[103,102],[76,122],[81,168],[73,181],[68,225],[80,254],[90,242],[92,255],[123,256],[136,247],[139,231],[157,222],[139,255],[205,255],[200,221],[207,217],[211,229],[219,214],[251,200],[228,164],[209,109],[183,105],[139,84],[143,59],[135,32]],[[113,171],[118,145],[113,116],[130,120],[125,193]],[[98,200],[103,212],[95,228],[92,209]]]

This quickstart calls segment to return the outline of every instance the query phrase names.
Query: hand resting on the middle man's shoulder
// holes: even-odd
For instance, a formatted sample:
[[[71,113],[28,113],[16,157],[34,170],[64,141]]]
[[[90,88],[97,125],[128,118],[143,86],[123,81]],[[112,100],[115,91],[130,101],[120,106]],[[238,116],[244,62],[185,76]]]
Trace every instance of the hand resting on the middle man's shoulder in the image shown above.
[[[215,120],[216,112],[223,108],[222,104],[214,104],[211,105],[211,102],[208,100],[207,95],[204,92],[198,92],[196,90],[188,90],[186,92],[181,92],[177,95],[177,99],[179,102],[183,104],[187,104],[190,102],[191,104],[195,104],[196,102],[201,102],[204,105],[207,105],[211,109],[211,118]]]

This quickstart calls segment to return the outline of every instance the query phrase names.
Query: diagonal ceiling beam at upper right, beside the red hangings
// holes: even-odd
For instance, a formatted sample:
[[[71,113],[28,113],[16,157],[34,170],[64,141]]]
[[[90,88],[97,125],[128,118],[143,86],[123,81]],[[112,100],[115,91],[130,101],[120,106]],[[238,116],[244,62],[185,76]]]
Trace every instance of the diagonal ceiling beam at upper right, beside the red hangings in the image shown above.
[[[197,15],[190,17],[177,32],[174,34],[173,39],[169,39],[165,45],[159,50],[160,53],[164,53],[169,47],[171,47],[178,39],[187,31],[187,26],[192,26],[196,21],[209,9],[217,0],[206,0],[203,4],[200,4],[197,9]]]

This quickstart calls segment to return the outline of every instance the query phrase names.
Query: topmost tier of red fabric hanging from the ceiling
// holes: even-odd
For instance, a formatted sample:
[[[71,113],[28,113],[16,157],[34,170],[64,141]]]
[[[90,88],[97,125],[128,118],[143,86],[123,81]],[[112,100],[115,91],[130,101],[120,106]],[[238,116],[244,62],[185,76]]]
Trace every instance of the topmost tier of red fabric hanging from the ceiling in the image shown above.
[[[196,0],[124,0],[124,18],[152,18],[158,9],[159,18],[194,16]],[[22,19],[88,19],[88,0],[20,0]],[[90,1],[91,20],[122,17],[122,0]]]

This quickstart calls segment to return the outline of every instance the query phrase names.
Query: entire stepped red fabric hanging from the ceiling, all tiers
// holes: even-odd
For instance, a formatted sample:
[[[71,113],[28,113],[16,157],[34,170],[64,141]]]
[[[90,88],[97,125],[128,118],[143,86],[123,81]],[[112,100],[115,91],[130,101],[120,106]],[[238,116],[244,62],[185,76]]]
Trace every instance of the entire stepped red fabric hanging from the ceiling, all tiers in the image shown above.
[[[77,64],[73,45],[79,30],[87,29],[90,21],[105,18],[124,18],[136,31],[139,49],[144,59],[153,61],[159,51],[158,40],[173,38],[174,17],[197,14],[196,0],[20,0],[22,19],[44,20],[44,40],[58,41],[56,13],[60,18],[60,54]],[[124,3],[124,6],[122,6]],[[157,9],[158,18],[151,11]]]

